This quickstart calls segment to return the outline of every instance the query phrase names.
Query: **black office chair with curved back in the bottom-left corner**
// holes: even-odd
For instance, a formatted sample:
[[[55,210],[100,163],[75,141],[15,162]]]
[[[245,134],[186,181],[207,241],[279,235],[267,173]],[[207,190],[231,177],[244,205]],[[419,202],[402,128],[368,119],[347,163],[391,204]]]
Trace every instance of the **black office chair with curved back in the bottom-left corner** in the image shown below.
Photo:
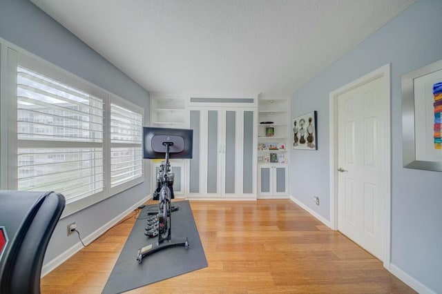
[[[65,206],[54,192],[0,190],[0,293],[40,293],[41,266]]]

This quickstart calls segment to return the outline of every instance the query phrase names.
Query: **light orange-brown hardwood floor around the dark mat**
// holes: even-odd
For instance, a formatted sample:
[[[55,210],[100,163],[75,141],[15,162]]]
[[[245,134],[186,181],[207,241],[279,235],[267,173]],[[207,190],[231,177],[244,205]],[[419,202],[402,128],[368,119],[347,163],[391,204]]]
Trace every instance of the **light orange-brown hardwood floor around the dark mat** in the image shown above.
[[[129,293],[415,293],[288,199],[191,207],[209,266]],[[41,293],[101,293],[134,222],[129,217],[46,275]]]

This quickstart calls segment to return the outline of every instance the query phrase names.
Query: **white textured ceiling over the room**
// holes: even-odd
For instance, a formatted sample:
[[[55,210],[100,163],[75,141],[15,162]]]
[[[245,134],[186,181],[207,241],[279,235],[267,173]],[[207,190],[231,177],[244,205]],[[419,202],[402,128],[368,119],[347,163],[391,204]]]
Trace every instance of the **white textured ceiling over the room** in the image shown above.
[[[31,0],[149,92],[287,97],[414,0]]]

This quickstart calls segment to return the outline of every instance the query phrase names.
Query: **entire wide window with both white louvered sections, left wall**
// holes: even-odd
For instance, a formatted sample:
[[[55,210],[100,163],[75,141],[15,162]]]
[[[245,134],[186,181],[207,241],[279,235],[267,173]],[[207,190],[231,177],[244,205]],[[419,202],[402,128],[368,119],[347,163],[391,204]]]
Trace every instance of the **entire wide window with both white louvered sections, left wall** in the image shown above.
[[[0,46],[1,188],[62,193],[66,216],[144,181],[144,108]]]

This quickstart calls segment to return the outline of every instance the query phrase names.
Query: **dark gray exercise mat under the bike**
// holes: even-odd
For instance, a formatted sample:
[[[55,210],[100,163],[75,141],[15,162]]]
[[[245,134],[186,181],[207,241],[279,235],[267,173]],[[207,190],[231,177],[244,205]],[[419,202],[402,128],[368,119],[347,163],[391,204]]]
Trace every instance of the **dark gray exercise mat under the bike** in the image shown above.
[[[144,235],[146,219],[142,218],[147,217],[148,210],[155,211],[154,207],[158,207],[146,206],[135,222],[102,293],[122,293],[207,266],[189,201],[173,202],[173,206],[180,208],[172,213],[172,238],[187,237],[189,248],[166,248],[147,255],[139,264],[136,260],[138,249],[158,240]]]

